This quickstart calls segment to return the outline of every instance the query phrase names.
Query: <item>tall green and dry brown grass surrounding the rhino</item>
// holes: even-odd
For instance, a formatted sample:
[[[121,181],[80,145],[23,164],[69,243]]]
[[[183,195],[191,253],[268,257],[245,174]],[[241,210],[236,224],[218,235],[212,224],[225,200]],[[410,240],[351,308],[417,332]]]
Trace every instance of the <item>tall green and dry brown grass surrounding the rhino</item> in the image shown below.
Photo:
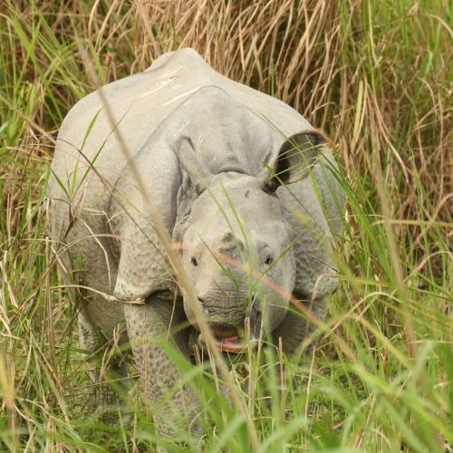
[[[233,365],[248,424],[212,379],[189,371],[206,426],[215,421],[204,448],[250,451],[255,437],[263,452],[452,451],[449,8],[448,0],[5,0],[0,451],[152,451],[164,441],[134,386],[127,416],[99,415],[102,391],[88,385],[41,207],[57,130],[95,86],[80,49],[104,83],[186,46],[325,130],[348,195],[341,286],[313,357],[295,366],[263,351]],[[180,436],[169,451],[196,448]]]

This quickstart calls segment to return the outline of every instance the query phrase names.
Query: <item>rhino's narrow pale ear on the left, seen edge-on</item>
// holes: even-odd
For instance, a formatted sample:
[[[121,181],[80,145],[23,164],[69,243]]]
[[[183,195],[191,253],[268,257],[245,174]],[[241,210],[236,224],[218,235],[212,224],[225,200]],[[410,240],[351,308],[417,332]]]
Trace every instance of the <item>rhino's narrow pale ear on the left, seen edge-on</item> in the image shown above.
[[[179,163],[188,173],[188,177],[194,184],[197,193],[200,194],[209,186],[213,174],[207,169],[203,161],[199,159],[192,140],[187,136],[178,139],[174,150]]]

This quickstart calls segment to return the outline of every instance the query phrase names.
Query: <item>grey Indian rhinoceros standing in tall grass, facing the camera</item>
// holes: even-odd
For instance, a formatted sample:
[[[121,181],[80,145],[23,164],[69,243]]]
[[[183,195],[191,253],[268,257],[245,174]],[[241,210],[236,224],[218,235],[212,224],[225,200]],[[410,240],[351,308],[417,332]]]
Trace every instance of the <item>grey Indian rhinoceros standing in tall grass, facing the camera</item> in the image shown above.
[[[82,348],[95,350],[125,320],[124,341],[155,402],[178,371],[152,337],[169,330],[190,355],[188,331],[198,325],[148,199],[178,245],[218,346],[241,350],[248,323],[251,341],[296,351],[309,323],[290,309],[290,297],[323,320],[337,286],[332,241],[344,197],[323,134],[191,49],[166,53],[101,92],[108,107],[92,92],[63,121],[48,188],[50,236],[66,283],[76,287]],[[194,400],[185,389],[173,402],[190,418]]]

